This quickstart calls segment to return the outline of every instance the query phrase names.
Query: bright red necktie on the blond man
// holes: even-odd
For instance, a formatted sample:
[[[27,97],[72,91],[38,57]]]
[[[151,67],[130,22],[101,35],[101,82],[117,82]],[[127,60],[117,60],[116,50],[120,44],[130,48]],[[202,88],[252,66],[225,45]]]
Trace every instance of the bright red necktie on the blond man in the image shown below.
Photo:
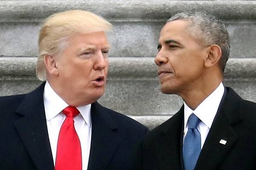
[[[73,120],[79,111],[68,106],[62,113],[67,118],[61,125],[58,136],[55,170],[82,170],[81,144]]]

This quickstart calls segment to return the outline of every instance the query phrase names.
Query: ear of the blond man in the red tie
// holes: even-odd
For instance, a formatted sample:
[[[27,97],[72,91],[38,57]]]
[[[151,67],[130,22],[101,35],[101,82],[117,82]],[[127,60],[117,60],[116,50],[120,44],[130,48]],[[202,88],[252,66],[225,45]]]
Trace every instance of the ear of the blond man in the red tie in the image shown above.
[[[56,65],[56,57],[53,57],[52,55],[45,55],[44,64],[49,74],[58,76],[58,67]]]

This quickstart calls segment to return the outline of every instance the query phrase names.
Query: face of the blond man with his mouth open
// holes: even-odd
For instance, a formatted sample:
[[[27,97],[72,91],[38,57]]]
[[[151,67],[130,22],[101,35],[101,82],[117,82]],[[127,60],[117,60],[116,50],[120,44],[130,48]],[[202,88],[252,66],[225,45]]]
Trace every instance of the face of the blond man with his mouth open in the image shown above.
[[[103,31],[77,33],[67,42],[56,61],[61,96],[75,106],[95,102],[105,91],[110,49],[107,37]]]

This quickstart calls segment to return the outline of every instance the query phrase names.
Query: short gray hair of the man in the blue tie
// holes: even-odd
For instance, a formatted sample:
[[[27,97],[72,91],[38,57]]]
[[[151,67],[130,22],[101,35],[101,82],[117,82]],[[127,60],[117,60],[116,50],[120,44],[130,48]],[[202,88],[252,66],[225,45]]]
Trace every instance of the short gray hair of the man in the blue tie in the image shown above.
[[[230,54],[230,36],[224,23],[215,16],[201,12],[181,12],[172,16],[167,23],[175,20],[190,21],[188,34],[205,47],[216,44],[221,48],[219,66],[224,72]]]

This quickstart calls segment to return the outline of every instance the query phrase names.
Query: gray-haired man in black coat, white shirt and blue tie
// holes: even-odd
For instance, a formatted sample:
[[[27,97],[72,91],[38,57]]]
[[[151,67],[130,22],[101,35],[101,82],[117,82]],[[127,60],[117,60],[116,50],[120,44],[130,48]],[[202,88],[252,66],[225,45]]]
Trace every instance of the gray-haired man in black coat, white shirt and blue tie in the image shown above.
[[[256,103],[222,83],[230,53],[224,24],[200,12],[176,14],[157,48],[161,91],[184,104],[143,137],[137,170],[255,170]]]

